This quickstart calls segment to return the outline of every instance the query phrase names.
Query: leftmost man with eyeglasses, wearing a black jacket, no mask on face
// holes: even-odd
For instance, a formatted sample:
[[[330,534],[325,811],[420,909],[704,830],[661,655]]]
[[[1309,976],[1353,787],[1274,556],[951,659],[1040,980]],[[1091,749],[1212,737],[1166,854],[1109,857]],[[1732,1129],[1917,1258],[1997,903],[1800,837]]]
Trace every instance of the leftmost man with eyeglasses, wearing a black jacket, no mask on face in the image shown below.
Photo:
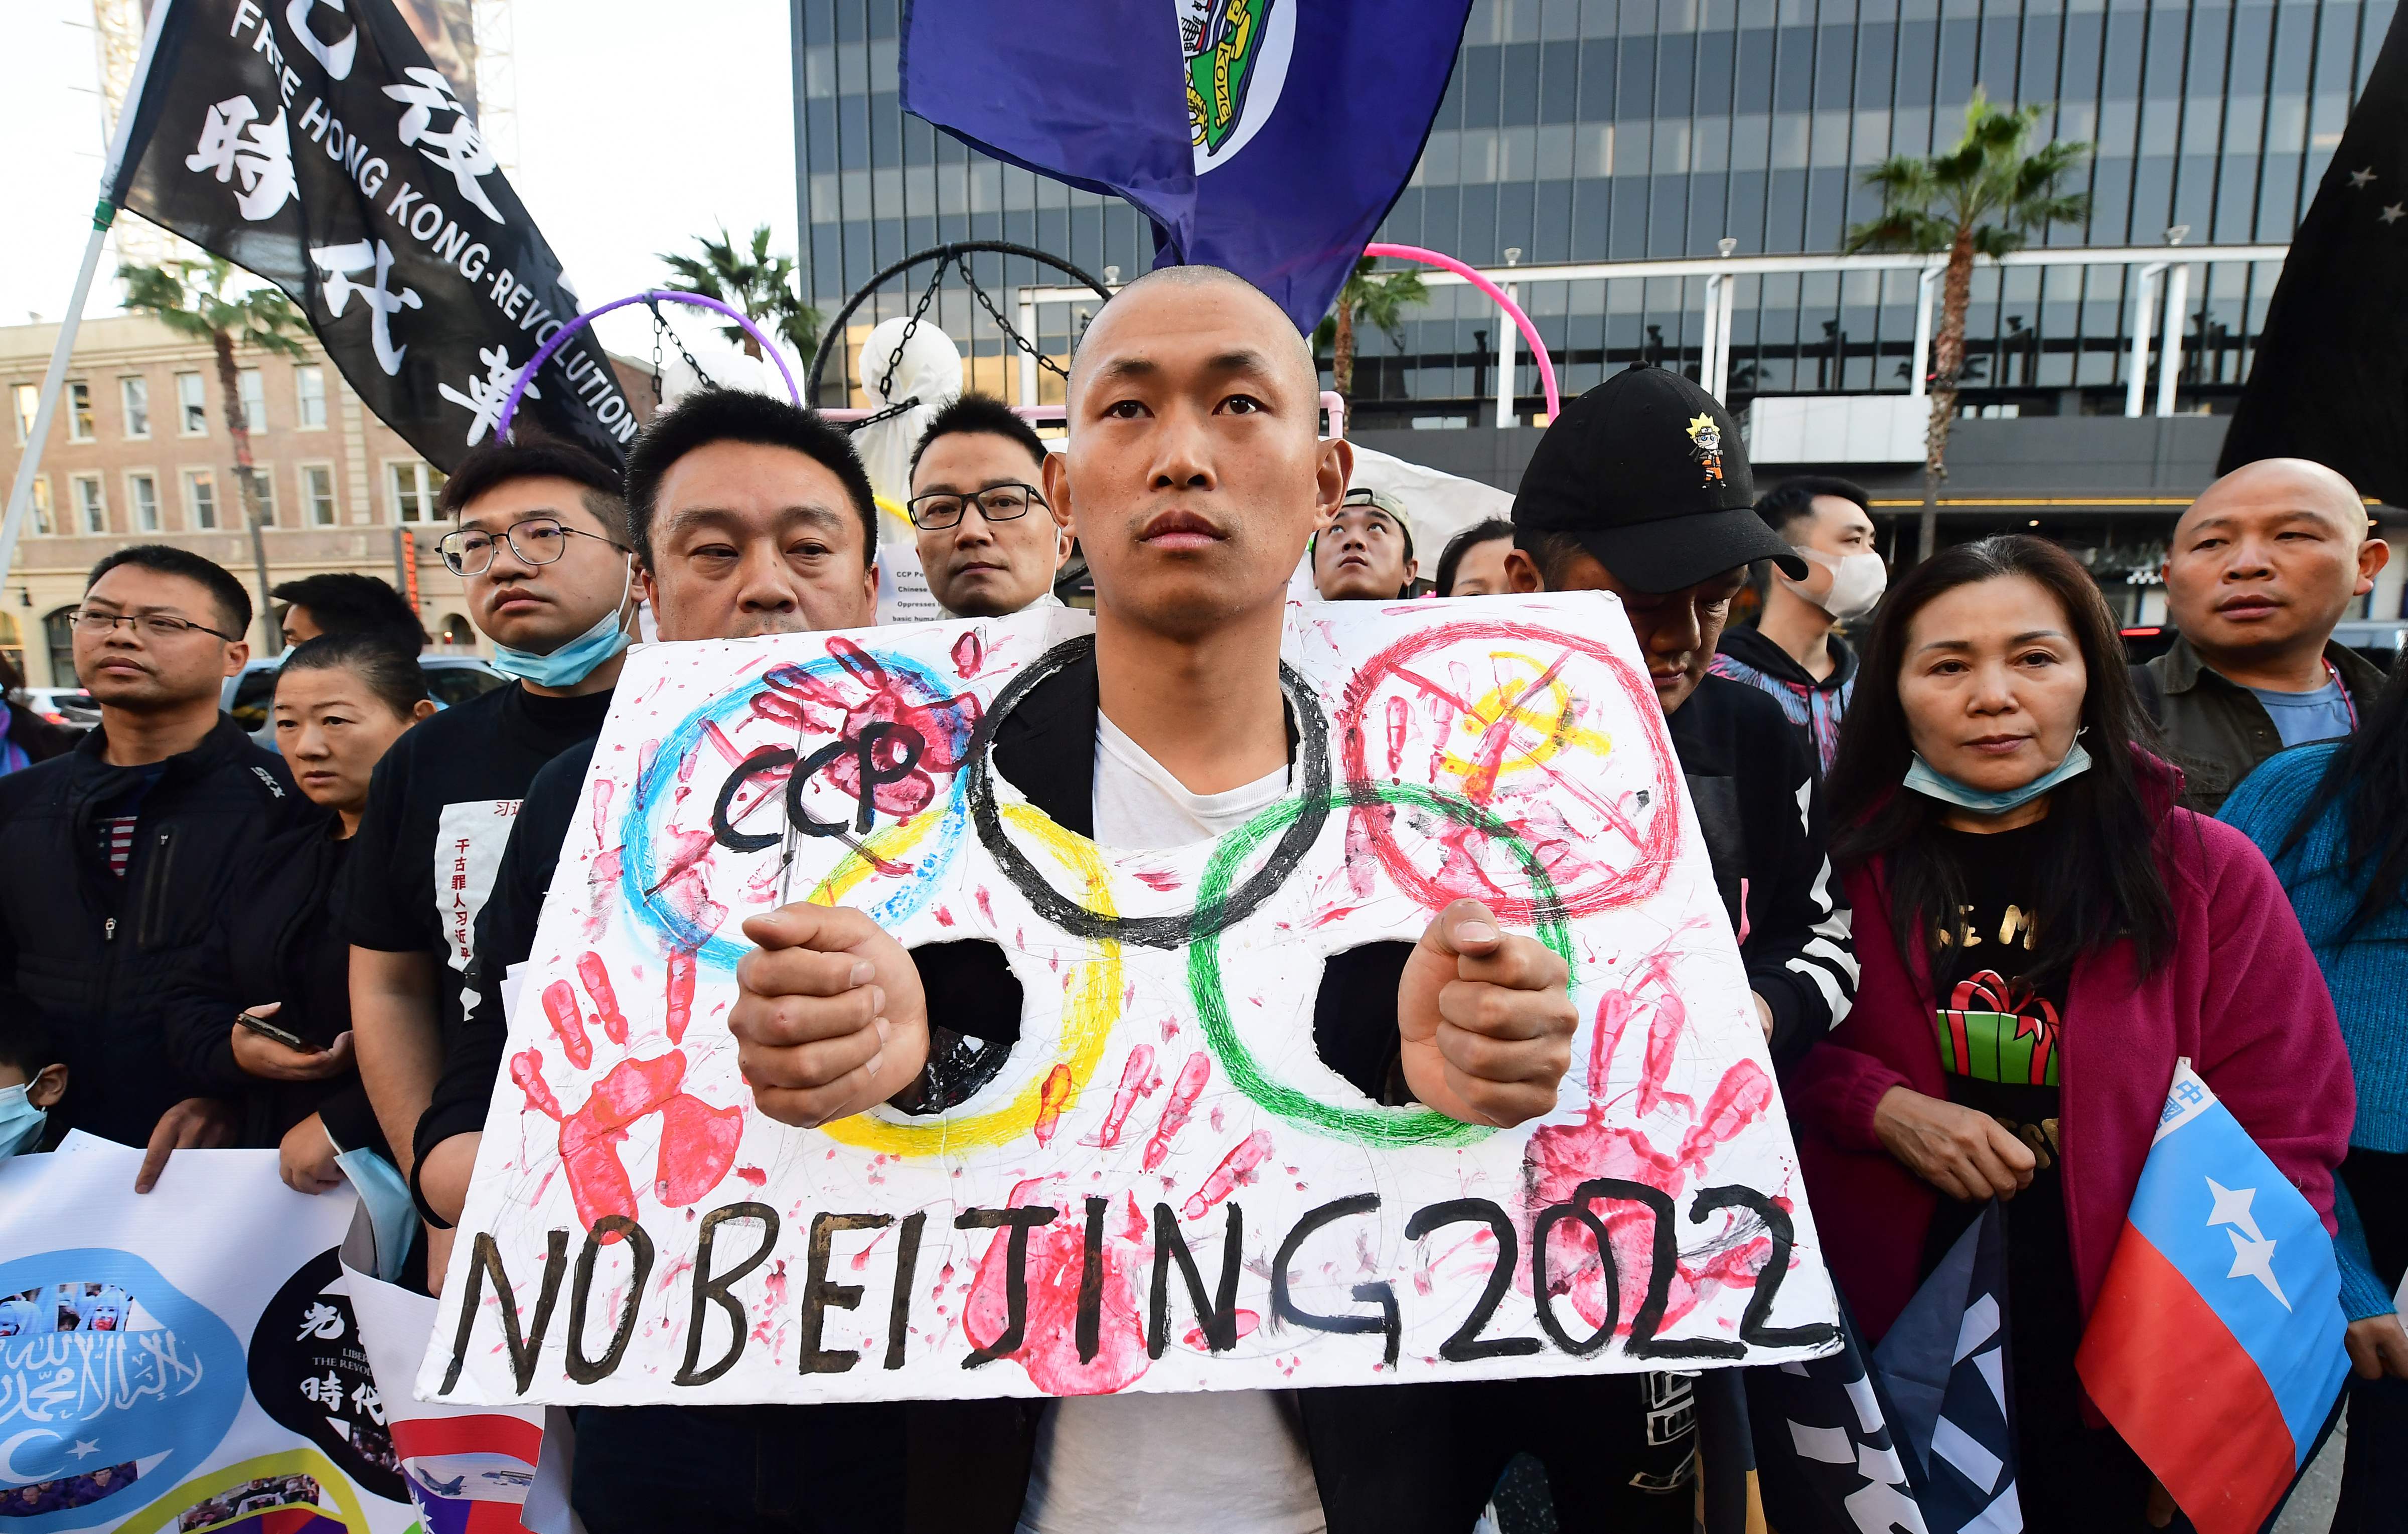
[[[101,725],[0,778],[0,1021],[60,1045],[67,1125],[147,1146],[135,1192],[176,1149],[234,1144],[234,1105],[176,1072],[159,1019],[234,855],[306,807],[284,759],[217,708],[250,660],[248,626],[250,597],[224,568],[118,549],[70,624]]]

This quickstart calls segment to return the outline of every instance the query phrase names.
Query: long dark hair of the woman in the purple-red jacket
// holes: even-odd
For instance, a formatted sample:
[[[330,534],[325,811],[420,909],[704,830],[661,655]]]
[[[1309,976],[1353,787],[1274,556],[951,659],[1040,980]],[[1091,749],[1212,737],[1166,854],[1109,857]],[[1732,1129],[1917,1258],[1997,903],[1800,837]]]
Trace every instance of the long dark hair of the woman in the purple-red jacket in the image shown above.
[[[2090,771],[2049,797],[2040,821],[2037,889],[2049,905],[2032,932],[2040,985],[2071,973],[2073,961],[2129,939],[2138,973],[2165,963],[2174,944],[2174,910],[2158,872],[2155,838],[2165,795],[2143,792],[2138,751],[2155,742],[2124,662],[2124,643],[2090,573],[2056,544],[2037,537],[1984,537],[1922,561],[1890,588],[1866,645],[1857,696],[1830,768],[1832,857],[1842,865],[1888,860],[1890,925],[1910,968],[1934,956],[1936,918],[1965,903],[1965,869],[1948,850],[1941,807],[1900,783],[1914,759],[1898,677],[1907,660],[1907,629],[1943,592],[1979,580],[2025,576],[2066,612],[2083,653],[2088,691],[2083,725]]]

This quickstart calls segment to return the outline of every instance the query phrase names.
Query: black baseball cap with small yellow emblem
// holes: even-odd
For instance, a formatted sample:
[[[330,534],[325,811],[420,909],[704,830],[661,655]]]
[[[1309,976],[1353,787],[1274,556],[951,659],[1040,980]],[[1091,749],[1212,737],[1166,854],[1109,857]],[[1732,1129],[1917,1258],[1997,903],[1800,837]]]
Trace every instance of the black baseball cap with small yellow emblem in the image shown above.
[[[1755,515],[1731,412],[1666,368],[1628,368],[1563,407],[1522,470],[1512,525],[1580,539],[1642,592],[1758,559],[1806,578],[1806,561]]]

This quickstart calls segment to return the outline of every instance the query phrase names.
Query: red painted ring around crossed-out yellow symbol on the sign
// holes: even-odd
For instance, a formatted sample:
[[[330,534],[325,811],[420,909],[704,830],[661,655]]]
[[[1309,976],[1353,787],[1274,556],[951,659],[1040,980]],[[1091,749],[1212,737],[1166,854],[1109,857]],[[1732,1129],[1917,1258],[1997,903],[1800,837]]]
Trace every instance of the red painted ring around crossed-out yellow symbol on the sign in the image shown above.
[[[1664,879],[1671,877],[1674,852],[1681,845],[1681,763],[1674,756],[1671,734],[1664,730],[1664,708],[1657,703],[1654,684],[1645,674],[1633,672],[1611,648],[1606,648],[1604,641],[1563,633],[1560,629],[1507,621],[1450,621],[1438,624],[1426,633],[1397,641],[1373,655],[1363,669],[1356,672],[1353,682],[1346,684],[1346,701],[1336,713],[1341,756],[1339,771],[1344,773],[1346,787],[1370,787],[1373,783],[1363,766],[1363,710],[1370,706],[1380,686],[1423,653],[1454,645],[1466,638],[1510,638],[1531,645],[1560,645],[1601,662],[1621,684],[1623,696],[1630,701],[1630,710],[1640,718],[1640,730],[1647,732],[1647,749],[1654,754],[1654,804],[1649,807],[1652,819],[1640,833],[1635,848],[1637,860],[1623,872],[1599,879],[1597,884],[1558,891],[1551,913],[1594,915],[1599,910],[1613,910],[1616,905],[1645,901],[1664,889]],[[1401,891],[1421,901],[1426,908],[1438,910],[1450,901],[1474,896],[1486,901],[1488,908],[1507,922],[1529,922],[1539,918],[1531,901],[1519,896],[1495,898],[1479,889],[1445,889],[1435,877],[1413,867],[1413,862],[1404,855],[1404,848],[1397,845],[1397,836],[1387,816],[1368,814],[1363,819],[1370,848],[1380,857],[1380,867],[1387,869],[1389,879],[1394,879]]]

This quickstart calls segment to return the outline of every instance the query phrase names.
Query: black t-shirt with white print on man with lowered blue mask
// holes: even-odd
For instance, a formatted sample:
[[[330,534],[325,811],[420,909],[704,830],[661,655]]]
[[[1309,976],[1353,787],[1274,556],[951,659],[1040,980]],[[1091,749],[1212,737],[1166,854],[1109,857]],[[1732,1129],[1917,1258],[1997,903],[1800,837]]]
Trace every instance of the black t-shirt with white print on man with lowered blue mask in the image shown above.
[[[443,961],[445,1040],[460,1026],[460,973],[518,802],[547,761],[602,730],[609,698],[539,698],[513,682],[445,708],[376,763],[335,886],[335,925],[354,946]]]

